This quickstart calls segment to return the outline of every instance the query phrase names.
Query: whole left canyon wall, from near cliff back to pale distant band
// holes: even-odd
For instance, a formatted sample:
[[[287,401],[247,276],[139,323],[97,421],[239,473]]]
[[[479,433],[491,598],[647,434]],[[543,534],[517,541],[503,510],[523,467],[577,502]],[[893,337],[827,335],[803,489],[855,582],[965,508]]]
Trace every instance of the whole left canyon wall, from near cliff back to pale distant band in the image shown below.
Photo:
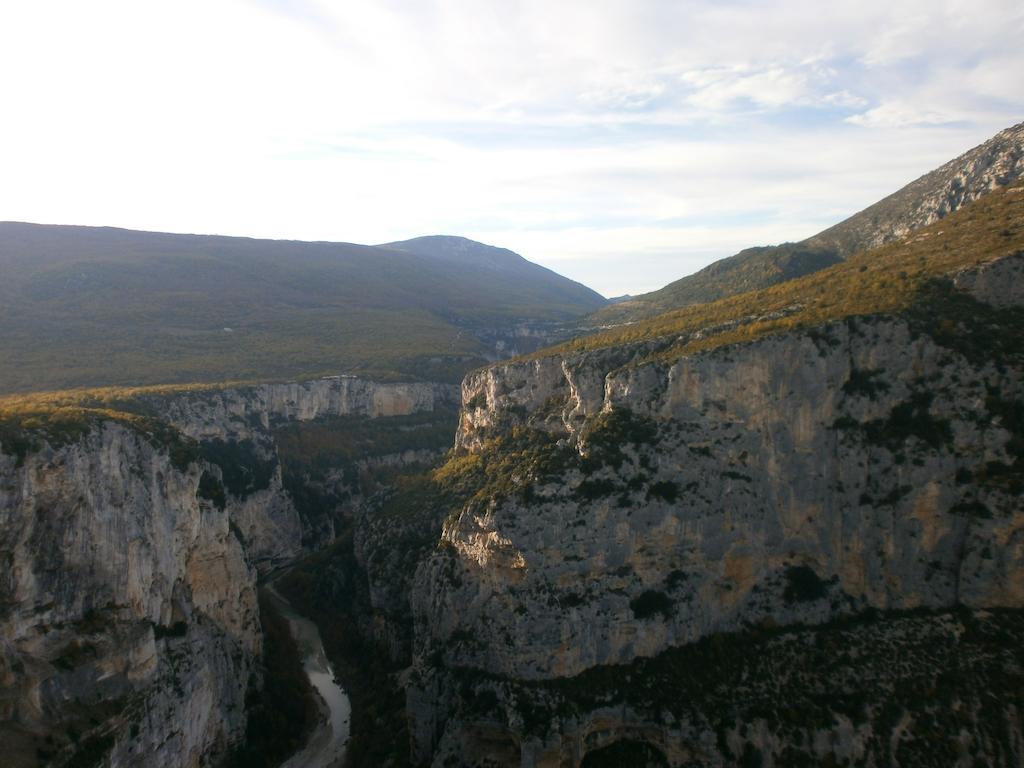
[[[333,535],[285,487],[281,429],[372,438],[399,417],[379,422],[407,434],[423,425],[400,417],[449,418],[456,394],[339,377],[15,418],[0,433],[4,764],[219,764],[259,685],[257,568]],[[356,469],[433,456],[382,450]]]

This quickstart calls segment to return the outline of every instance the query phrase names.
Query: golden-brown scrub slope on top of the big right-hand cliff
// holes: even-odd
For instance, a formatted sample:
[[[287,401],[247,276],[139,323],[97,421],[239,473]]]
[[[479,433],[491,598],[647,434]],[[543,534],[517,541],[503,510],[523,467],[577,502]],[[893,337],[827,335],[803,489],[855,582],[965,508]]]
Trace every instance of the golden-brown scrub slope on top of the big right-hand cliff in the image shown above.
[[[525,359],[640,341],[659,357],[734,344],[855,315],[910,309],[936,280],[1024,251],[1024,184],[996,189],[882,248],[771,288],[666,312],[549,347]]]

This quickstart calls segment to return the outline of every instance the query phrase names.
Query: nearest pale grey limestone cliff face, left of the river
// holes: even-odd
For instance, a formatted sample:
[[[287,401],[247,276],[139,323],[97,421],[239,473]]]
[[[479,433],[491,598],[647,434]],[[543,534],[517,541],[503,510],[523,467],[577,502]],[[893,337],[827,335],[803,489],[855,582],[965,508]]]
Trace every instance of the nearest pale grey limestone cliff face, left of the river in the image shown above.
[[[212,765],[242,736],[255,571],[202,471],[111,422],[0,455],[5,764]]]

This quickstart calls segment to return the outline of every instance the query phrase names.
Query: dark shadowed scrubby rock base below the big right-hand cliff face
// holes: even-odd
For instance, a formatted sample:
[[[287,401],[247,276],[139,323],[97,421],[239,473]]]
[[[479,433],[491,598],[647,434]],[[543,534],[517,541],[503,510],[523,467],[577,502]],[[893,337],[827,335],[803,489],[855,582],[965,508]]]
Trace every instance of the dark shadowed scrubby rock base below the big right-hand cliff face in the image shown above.
[[[758,628],[568,680],[442,673],[410,711],[442,712],[414,719],[433,765],[1010,768],[1022,639],[1020,610]]]

